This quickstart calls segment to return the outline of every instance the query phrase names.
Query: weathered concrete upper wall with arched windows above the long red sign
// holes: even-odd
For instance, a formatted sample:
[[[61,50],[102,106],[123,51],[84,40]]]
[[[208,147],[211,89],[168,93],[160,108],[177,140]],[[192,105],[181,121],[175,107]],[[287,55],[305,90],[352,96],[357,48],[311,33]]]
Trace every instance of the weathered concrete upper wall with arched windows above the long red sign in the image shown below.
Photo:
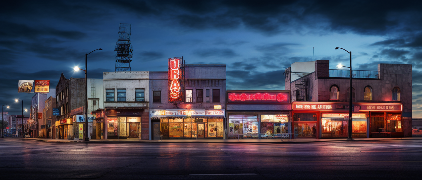
[[[303,74],[302,78],[292,80],[291,68],[286,69],[286,90],[292,91],[292,101],[300,101],[296,92],[306,89],[309,102],[348,102],[349,77],[335,77],[330,74],[328,60],[316,60],[315,71]],[[335,70],[333,70],[334,72]],[[378,71],[378,72],[377,72]],[[347,72],[349,72],[347,70]],[[359,73],[353,71],[353,73]],[[352,88],[356,103],[400,103],[403,104],[403,136],[411,136],[411,93],[412,93],[412,68],[406,64],[379,64],[378,69],[365,72],[371,78],[352,78]],[[372,73],[372,74],[371,74]],[[347,76],[349,76],[347,74]],[[378,77],[376,77],[378,76]],[[337,87],[338,98],[330,99],[331,87]],[[371,89],[372,100],[364,100],[365,88]],[[393,89],[398,89],[398,99],[392,99]]]

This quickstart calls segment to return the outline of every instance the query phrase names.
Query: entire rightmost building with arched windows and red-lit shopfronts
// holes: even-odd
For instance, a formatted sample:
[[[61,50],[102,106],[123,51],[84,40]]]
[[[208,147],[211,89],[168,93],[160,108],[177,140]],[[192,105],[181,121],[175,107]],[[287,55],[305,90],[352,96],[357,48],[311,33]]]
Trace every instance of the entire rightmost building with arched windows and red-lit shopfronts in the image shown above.
[[[286,68],[295,138],[347,137],[349,70],[329,67],[329,60],[316,60]],[[411,136],[411,70],[405,64],[352,70],[352,137]]]

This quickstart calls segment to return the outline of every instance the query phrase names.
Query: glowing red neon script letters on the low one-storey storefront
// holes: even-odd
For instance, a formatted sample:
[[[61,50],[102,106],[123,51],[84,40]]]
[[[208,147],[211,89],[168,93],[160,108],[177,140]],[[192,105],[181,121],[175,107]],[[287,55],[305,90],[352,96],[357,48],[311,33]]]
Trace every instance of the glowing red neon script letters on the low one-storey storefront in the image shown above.
[[[265,100],[265,101],[287,101],[288,96],[286,94],[277,94],[277,95],[271,95],[268,93],[261,94],[240,94],[236,95],[234,93],[229,95],[229,99],[232,101],[240,100],[240,101],[257,101],[257,100]]]

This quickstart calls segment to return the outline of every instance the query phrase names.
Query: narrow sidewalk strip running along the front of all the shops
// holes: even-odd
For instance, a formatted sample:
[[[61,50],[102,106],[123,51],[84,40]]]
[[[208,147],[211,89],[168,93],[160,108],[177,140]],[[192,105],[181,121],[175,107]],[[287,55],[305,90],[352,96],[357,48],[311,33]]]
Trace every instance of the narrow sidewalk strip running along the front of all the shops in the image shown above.
[[[1,138],[0,138],[1,139]],[[330,141],[380,141],[380,140],[415,140],[422,138],[353,138],[346,140],[338,139],[164,139],[164,140],[138,140],[138,139],[91,139],[89,141],[68,139],[45,139],[45,138],[3,138],[22,139],[32,141],[44,141],[50,143],[315,143]]]

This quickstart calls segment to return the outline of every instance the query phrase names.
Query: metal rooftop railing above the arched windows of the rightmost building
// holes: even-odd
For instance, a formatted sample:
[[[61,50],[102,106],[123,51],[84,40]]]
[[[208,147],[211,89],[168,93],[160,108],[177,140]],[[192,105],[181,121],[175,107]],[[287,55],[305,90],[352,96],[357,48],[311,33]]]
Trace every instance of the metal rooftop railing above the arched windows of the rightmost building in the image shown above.
[[[330,77],[333,78],[350,78],[349,70],[330,69]],[[379,79],[379,71],[377,70],[352,70],[352,78],[372,78]]]

